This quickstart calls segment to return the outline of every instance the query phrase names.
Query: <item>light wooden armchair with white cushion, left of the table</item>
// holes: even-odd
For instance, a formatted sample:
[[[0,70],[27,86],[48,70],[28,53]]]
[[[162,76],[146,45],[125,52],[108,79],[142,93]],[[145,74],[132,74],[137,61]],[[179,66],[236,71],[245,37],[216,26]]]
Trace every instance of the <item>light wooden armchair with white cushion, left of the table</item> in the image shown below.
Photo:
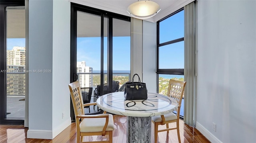
[[[76,143],[83,141],[83,136],[108,135],[108,141],[96,143],[112,143],[114,120],[112,114],[84,115],[84,106],[96,105],[96,102],[84,104],[78,81],[68,84],[76,117]],[[81,119],[81,121],[80,121]],[[91,142],[90,142],[91,143]]]

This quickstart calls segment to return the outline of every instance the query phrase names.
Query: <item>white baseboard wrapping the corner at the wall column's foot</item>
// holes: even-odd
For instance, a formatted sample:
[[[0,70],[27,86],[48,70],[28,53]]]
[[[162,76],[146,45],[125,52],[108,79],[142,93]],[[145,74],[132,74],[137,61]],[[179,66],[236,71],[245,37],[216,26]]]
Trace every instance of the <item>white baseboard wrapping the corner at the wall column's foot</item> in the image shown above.
[[[56,129],[54,129],[54,131],[28,129],[27,138],[31,138],[31,139],[54,139],[54,137],[56,137],[58,134],[60,134],[70,124],[71,124],[71,119],[69,118],[64,123],[59,125]]]

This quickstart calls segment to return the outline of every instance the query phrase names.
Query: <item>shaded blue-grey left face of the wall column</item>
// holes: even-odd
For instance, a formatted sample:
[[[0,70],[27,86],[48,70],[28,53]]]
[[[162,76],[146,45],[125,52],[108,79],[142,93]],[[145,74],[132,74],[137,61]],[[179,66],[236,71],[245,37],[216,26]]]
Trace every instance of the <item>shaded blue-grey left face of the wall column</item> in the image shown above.
[[[29,69],[52,70],[52,1],[29,1]],[[28,138],[51,138],[52,73],[29,73]]]

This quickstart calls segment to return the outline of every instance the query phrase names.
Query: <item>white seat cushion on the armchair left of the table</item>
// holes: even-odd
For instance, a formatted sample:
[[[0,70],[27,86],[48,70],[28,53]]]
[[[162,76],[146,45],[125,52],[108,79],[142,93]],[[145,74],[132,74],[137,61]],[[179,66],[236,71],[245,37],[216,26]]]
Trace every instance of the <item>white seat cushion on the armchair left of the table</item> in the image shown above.
[[[106,118],[84,118],[80,123],[80,132],[99,132],[103,130]],[[106,131],[114,130],[113,115],[108,114],[108,126]]]

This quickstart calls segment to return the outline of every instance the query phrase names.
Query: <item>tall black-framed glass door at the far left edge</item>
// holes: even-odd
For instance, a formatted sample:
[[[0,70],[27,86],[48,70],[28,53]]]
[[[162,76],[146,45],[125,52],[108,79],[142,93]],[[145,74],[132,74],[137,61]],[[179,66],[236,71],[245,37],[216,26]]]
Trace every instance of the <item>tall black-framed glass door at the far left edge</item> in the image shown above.
[[[0,1],[0,122],[24,123],[25,1]]]

